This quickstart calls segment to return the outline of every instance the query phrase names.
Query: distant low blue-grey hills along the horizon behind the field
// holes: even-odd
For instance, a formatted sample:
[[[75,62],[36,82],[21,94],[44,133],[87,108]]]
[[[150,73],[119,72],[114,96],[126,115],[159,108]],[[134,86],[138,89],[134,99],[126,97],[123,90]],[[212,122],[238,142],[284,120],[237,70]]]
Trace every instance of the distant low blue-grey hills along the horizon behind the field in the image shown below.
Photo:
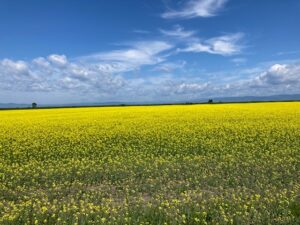
[[[218,102],[268,102],[268,101],[300,101],[300,94],[294,95],[271,95],[271,96],[242,96],[242,97],[215,97],[215,98],[201,98],[184,101],[173,102],[80,102],[68,104],[39,104],[38,107],[80,107],[80,106],[118,106],[118,105],[151,105],[151,104],[184,104],[184,103],[205,103],[208,99],[213,99],[215,103]],[[31,108],[31,104],[17,104],[17,103],[0,103],[0,109],[3,108]]]

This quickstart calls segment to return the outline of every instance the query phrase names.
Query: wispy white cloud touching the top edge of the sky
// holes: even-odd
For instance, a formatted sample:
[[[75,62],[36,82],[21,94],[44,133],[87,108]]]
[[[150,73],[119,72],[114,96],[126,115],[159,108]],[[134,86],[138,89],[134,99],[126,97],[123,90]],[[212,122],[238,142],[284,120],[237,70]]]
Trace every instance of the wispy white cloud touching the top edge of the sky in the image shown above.
[[[216,16],[227,0],[189,0],[182,9],[168,10],[162,14],[165,19]]]

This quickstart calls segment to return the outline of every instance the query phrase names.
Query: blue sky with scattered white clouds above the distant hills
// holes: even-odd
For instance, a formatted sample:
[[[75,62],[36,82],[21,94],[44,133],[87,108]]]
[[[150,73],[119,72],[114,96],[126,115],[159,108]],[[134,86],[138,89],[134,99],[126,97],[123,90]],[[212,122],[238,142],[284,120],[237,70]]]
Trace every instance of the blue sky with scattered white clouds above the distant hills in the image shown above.
[[[300,91],[298,0],[2,0],[0,102]]]

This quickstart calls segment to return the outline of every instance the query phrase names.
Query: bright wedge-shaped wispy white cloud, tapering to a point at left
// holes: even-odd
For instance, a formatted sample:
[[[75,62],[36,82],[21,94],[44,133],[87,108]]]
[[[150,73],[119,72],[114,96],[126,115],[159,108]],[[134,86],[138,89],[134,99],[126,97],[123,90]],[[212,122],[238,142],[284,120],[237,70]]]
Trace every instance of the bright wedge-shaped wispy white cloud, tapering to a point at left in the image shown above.
[[[220,37],[210,38],[208,40],[194,41],[186,48],[179,49],[179,52],[206,52],[211,54],[230,56],[241,52],[243,46],[240,44],[243,33],[223,35]]]

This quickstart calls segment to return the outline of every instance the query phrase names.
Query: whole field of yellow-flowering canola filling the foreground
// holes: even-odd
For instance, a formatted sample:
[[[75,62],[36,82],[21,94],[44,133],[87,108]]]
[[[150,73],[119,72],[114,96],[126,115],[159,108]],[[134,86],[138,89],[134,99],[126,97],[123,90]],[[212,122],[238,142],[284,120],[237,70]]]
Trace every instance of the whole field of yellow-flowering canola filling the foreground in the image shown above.
[[[0,224],[300,224],[300,103],[0,111]]]

